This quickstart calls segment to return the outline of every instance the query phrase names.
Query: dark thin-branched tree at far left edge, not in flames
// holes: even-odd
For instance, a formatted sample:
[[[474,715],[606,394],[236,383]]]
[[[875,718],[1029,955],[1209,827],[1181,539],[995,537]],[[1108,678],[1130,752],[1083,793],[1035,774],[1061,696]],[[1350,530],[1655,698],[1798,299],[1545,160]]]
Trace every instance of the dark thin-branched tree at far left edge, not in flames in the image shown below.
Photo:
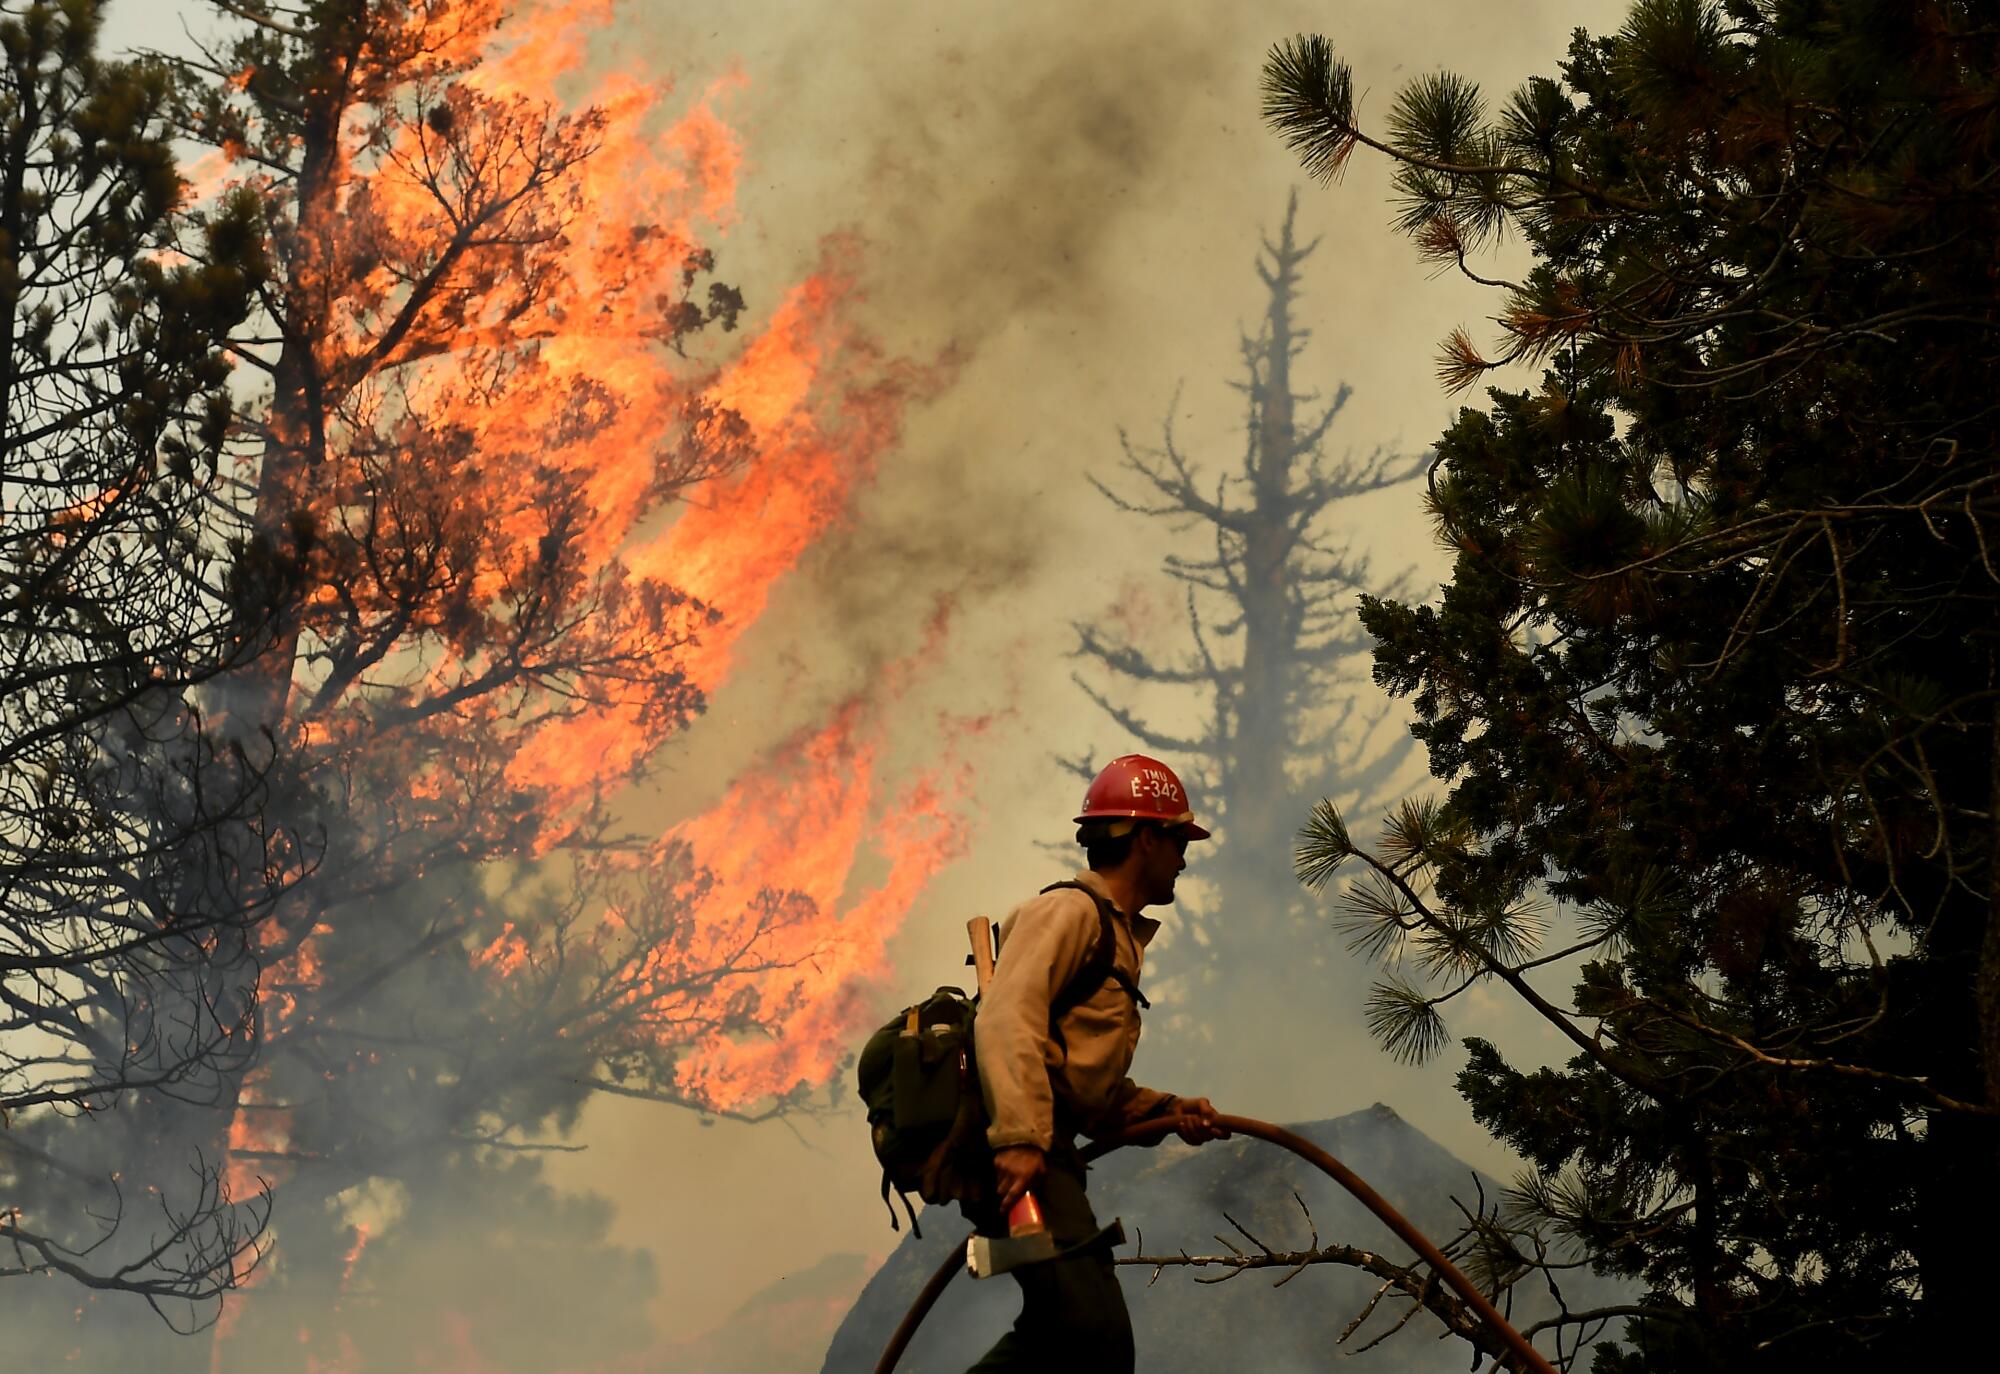
[[[162,1192],[56,1142],[226,1096],[230,984],[312,846],[262,820],[272,752],[196,704],[260,630],[212,526],[258,208],[180,232],[168,74],[98,60],[98,22],[0,10],[0,1278],[160,1306],[232,1284],[264,1206],[228,1204],[218,1154],[158,1160]]]

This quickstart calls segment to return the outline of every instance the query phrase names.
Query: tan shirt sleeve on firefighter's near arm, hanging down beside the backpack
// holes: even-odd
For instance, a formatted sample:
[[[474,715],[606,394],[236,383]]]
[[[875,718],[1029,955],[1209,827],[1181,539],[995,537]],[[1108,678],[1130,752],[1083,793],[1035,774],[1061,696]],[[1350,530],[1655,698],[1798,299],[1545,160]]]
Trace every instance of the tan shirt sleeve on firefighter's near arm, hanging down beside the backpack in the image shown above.
[[[972,1038],[986,1098],[986,1144],[994,1150],[1056,1140],[1048,1070],[1056,1050],[1048,1008],[1096,944],[1096,906],[1078,892],[1044,892],[1008,922],[1000,962],[980,998]]]

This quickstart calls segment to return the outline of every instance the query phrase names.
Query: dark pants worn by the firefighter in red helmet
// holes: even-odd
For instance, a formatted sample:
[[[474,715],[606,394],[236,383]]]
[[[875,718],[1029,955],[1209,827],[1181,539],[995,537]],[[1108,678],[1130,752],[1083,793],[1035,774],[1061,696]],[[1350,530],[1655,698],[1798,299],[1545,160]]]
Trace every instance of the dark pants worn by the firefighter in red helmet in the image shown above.
[[[1076,1244],[1098,1232],[1084,1196],[1084,1162],[1074,1148],[1050,1152],[1034,1196],[1056,1244]],[[974,1214],[972,1222],[988,1236],[1006,1234],[1006,1222],[992,1208]],[[1108,1248],[1024,1264],[1012,1274],[1020,1284],[1014,1330],[968,1374],[1132,1374],[1132,1314]]]

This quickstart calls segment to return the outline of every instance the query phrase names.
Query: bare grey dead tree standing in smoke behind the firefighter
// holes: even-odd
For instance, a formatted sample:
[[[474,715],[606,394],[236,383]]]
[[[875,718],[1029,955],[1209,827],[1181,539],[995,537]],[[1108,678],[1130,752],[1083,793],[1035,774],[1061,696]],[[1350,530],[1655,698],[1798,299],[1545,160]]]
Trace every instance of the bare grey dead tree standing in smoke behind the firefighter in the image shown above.
[[[1176,398],[1158,448],[1120,434],[1126,490],[1098,482],[1118,510],[1212,540],[1206,558],[1166,558],[1168,576],[1186,588],[1190,648],[1162,660],[1116,624],[1076,626],[1078,654],[1112,684],[1078,676],[1078,686],[1126,738],[1186,766],[1220,816],[1220,854],[1200,870],[1216,896],[1182,914],[1200,950],[1192,972],[1202,988],[1184,1004],[1198,1004],[1204,1022],[1228,1016],[1236,996],[1266,1002],[1274,988],[1298,998],[1294,1006],[1324,1000],[1310,956],[1316,942],[1290,880],[1296,816],[1314,796],[1372,802],[1410,750],[1402,732],[1384,738],[1386,712],[1370,712],[1356,690],[1354,666],[1368,648],[1356,606],[1380,588],[1368,560],[1336,540],[1330,520],[1342,502],[1412,480],[1424,460],[1386,448],[1366,458],[1326,454],[1352,392],[1340,386],[1314,408],[1312,394],[1292,390],[1292,364],[1312,338],[1294,318],[1300,268],[1314,250],[1300,244],[1292,196],[1276,242],[1264,242],[1256,264],[1266,308],[1256,334],[1240,342],[1240,466],[1210,486],[1198,458],[1176,440]],[[1130,704],[1134,688],[1156,686],[1178,688],[1170,696],[1192,728],[1154,724]],[[1094,764],[1074,760],[1072,770],[1088,778]],[[1176,1040],[1196,1034],[1188,1014],[1168,1024]]]

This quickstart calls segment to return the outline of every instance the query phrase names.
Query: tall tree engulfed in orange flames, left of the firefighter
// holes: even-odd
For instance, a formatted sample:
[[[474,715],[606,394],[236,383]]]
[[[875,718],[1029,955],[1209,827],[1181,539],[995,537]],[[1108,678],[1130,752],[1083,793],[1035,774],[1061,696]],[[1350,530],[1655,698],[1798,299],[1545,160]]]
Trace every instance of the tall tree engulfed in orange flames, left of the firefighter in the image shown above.
[[[322,850],[222,978],[246,1008],[244,1072],[212,1102],[72,1134],[128,1160],[196,1142],[228,1158],[236,1196],[268,1188],[272,1300],[242,1340],[274,1324],[288,1358],[322,1358],[354,1330],[314,1332],[336,1310],[280,1296],[360,1284],[370,1328],[394,1330],[370,1256],[396,1246],[370,1232],[400,1226],[406,1262],[426,1244],[412,1228],[464,1220],[436,1196],[486,1188],[522,1216],[522,1154],[590,1092],[768,1114],[838,1066],[866,1014],[854,980],[948,854],[922,824],[936,788],[902,798],[908,844],[840,922],[874,796],[860,704],[788,750],[852,804],[852,832],[822,824],[796,854],[788,818],[826,794],[782,776],[650,838],[612,796],[726,676],[920,378],[842,332],[838,260],[702,360],[744,308],[694,234],[726,212],[738,152],[710,100],[660,128],[660,90],[634,78],[562,114],[608,6],[218,8],[238,28],[182,64],[180,126],[214,148],[198,178],[248,188],[268,228],[268,284],[232,340],[254,404],[218,502],[254,654],[186,700],[288,780],[252,830]],[[668,520],[694,482],[702,506]],[[584,1218],[568,1244],[600,1232]],[[508,1292],[470,1324],[404,1300],[428,1336],[404,1326],[400,1350],[476,1328],[484,1358],[534,1358]]]

